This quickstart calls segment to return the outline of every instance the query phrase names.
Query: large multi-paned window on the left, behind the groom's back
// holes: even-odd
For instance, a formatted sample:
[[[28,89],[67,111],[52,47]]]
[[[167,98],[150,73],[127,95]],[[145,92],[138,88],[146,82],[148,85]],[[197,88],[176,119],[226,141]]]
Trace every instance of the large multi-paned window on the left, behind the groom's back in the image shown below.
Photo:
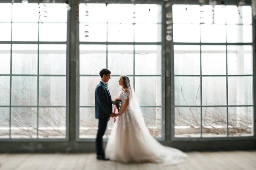
[[[0,138],[66,138],[66,5],[0,3],[0,16]]]

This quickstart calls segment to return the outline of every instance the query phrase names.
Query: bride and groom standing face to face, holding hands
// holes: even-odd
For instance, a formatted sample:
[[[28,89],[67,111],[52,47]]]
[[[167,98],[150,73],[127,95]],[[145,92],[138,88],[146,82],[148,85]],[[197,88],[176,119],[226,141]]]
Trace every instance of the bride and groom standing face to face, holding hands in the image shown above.
[[[111,94],[106,83],[111,79],[111,71],[102,69],[102,78],[95,89],[95,116],[99,119],[96,137],[96,154],[99,160],[112,160],[122,163],[155,162],[178,164],[186,159],[186,154],[157,142],[145,125],[137,96],[131,87],[129,77],[121,75],[119,94],[121,107],[119,113],[113,113]],[[105,151],[102,137],[110,117],[116,117]]]

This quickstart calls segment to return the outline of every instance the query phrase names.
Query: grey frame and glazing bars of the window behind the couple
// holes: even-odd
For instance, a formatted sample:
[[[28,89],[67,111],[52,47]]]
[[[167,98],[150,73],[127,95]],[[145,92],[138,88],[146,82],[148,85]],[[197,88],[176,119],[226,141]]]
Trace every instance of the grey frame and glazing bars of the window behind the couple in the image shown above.
[[[96,1],[96,0],[92,0],[92,1],[89,1],[88,3],[96,3],[96,2],[93,2],[93,1]],[[115,4],[116,2],[113,1],[113,4]],[[117,2],[116,4],[120,4],[120,3],[124,3],[124,4],[140,4],[142,2],[130,2],[130,1],[127,1],[127,0],[124,0],[121,2]],[[111,3],[112,4],[112,3]],[[79,84],[80,84],[80,77],[99,77],[99,75],[88,75],[88,74],[80,74],[79,71],[79,57],[80,57],[80,51],[79,51],[79,46],[80,45],[133,45],[133,48],[134,48],[134,51],[133,51],[133,64],[135,65],[135,45],[161,45],[161,74],[157,74],[157,75],[137,75],[135,74],[135,67],[134,67],[134,71],[133,71],[133,74],[129,74],[127,76],[129,77],[133,77],[133,85],[134,85],[134,88],[135,87],[135,78],[136,77],[161,77],[161,105],[160,106],[141,106],[141,108],[161,108],[161,137],[160,138],[155,138],[157,139],[158,141],[165,141],[166,140],[166,127],[165,127],[165,6],[164,6],[164,2],[159,2],[157,0],[155,1],[152,1],[150,3],[147,3],[147,4],[156,4],[156,5],[161,5],[161,8],[162,8],[162,19],[161,19],[161,24],[162,24],[162,27],[161,27],[161,42],[81,42],[79,40],[79,21],[76,23],[76,30],[77,30],[77,36],[76,36],[76,60],[77,60],[77,64],[76,64],[76,79],[77,79],[77,82],[76,82],[76,94],[77,94],[77,97],[76,97],[76,141],[80,141],[80,142],[94,142],[95,141],[95,138],[80,138],[79,137],[79,117],[80,117],[80,113],[79,113],[79,110],[80,108],[94,108],[94,106],[80,106],[79,104],[79,98],[80,98],[80,93],[79,93]],[[107,35],[108,36],[108,35]],[[106,50],[106,68],[108,68],[108,47],[107,47],[107,50]],[[115,74],[111,74],[111,77],[119,77],[119,75],[115,75]],[[100,77],[99,77],[100,79]],[[94,113],[92,113],[94,115]],[[104,142],[108,141],[108,127],[107,127],[107,130],[106,130],[106,138],[103,139]]]

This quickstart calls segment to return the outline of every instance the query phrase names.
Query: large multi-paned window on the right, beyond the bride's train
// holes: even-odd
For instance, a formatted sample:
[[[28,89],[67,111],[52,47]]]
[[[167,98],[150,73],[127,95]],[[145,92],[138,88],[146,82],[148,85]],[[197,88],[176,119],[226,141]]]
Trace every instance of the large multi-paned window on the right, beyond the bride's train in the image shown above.
[[[172,10],[172,136],[253,136],[251,7],[173,5]]]

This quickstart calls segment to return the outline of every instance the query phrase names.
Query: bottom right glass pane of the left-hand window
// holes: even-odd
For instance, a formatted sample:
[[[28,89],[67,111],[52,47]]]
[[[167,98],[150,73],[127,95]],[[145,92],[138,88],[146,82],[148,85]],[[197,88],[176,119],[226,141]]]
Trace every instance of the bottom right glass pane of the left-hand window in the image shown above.
[[[66,138],[66,108],[39,108],[39,138]]]

